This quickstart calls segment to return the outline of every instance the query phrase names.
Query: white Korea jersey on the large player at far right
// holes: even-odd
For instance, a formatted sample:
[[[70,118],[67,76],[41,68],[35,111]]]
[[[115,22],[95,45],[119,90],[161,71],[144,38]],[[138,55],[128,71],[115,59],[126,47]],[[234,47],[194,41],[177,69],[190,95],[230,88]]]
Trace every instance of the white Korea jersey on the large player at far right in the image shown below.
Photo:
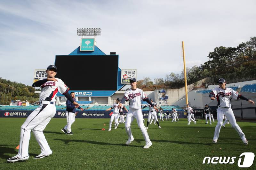
[[[211,94],[214,97],[216,96],[218,106],[220,107],[231,107],[230,100],[232,98],[239,99],[241,96],[237,91],[231,88],[221,89],[220,87],[213,89]]]

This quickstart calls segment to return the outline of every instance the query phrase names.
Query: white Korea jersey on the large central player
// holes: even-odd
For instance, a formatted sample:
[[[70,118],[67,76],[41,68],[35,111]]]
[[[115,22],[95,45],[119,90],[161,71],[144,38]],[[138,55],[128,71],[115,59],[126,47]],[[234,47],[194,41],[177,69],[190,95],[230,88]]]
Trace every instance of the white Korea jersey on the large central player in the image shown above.
[[[147,97],[146,93],[141,89],[129,89],[124,92],[124,98],[129,100],[129,108],[140,109],[141,100],[144,100]]]

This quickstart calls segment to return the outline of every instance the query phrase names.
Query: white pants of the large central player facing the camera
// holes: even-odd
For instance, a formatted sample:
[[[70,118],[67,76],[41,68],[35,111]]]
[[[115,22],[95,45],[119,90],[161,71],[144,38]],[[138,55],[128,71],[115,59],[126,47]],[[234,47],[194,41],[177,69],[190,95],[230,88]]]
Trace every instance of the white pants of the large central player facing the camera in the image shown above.
[[[148,114],[148,116],[149,116],[149,114]],[[132,124],[132,121],[133,121],[134,118],[137,120],[137,124],[140,127],[142,135],[143,135],[143,137],[146,141],[146,145],[147,144],[152,144],[150,139],[149,139],[147,129],[144,126],[144,123],[143,123],[143,120],[142,120],[143,116],[142,116],[141,109],[132,109],[132,108],[130,108],[127,115],[126,115],[125,130],[126,130],[126,133],[128,135],[128,140],[133,140],[134,139],[133,136],[132,136],[132,130],[131,130],[131,124]]]

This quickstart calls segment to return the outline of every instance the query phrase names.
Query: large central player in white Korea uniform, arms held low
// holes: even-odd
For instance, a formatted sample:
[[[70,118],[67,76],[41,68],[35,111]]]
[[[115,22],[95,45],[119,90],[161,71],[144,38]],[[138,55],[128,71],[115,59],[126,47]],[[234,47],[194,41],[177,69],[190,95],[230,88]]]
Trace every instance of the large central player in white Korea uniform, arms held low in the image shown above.
[[[153,103],[148,99],[147,95],[145,94],[145,92],[141,89],[138,89],[136,87],[137,82],[135,78],[131,78],[130,80],[130,85],[131,85],[131,89],[127,90],[124,92],[124,97],[121,100],[120,105],[118,106],[118,108],[122,107],[122,103],[124,103],[125,101],[129,100],[129,111],[126,115],[126,120],[125,120],[125,130],[127,132],[128,135],[128,140],[126,141],[126,145],[129,145],[133,140],[133,136],[132,136],[132,131],[131,131],[131,124],[133,119],[135,118],[137,120],[137,124],[140,127],[140,130],[142,132],[142,135],[146,141],[146,145],[143,147],[145,149],[149,148],[152,143],[149,139],[148,136],[148,132],[146,127],[143,124],[143,115],[142,115],[142,111],[141,111],[141,100],[146,101],[148,104],[150,104],[151,106],[154,106]],[[153,107],[155,110],[158,110],[156,108],[156,106]]]

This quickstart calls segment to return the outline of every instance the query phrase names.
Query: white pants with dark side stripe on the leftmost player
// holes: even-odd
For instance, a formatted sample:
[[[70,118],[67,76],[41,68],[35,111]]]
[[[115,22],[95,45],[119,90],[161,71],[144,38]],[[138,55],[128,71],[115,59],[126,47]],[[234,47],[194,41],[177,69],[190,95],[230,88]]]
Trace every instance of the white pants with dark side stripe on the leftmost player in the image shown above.
[[[20,128],[19,158],[28,156],[28,144],[31,130],[41,148],[41,153],[44,155],[52,153],[50,146],[44,137],[43,130],[50,122],[51,118],[55,116],[55,113],[56,107],[54,104],[40,104],[39,107],[27,117]]]

